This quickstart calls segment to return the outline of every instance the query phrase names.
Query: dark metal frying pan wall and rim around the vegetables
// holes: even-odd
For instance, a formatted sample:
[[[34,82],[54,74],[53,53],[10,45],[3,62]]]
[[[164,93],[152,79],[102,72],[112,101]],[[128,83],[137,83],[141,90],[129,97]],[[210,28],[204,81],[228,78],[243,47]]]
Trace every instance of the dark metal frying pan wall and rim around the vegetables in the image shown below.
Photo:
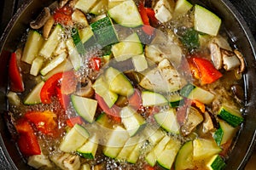
[[[22,156],[16,149],[15,141],[11,139],[8,125],[3,118],[4,111],[7,111],[6,90],[8,88],[8,59],[9,52],[15,51],[20,38],[29,27],[29,22],[39,14],[44,6],[52,3],[53,0],[32,0],[26,1],[18,9],[15,16],[10,20],[9,25],[3,32],[0,40],[0,158],[5,159],[1,169],[29,169]],[[191,2],[191,1],[190,1]],[[212,10],[213,13],[223,20],[224,29],[228,31],[230,39],[236,44],[241,53],[244,54],[247,71],[243,76],[245,90],[244,117],[245,122],[241,126],[236,144],[230,153],[226,169],[243,169],[253,153],[256,143],[256,44],[246,22],[238,13],[237,9],[228,0],[195,0]]]

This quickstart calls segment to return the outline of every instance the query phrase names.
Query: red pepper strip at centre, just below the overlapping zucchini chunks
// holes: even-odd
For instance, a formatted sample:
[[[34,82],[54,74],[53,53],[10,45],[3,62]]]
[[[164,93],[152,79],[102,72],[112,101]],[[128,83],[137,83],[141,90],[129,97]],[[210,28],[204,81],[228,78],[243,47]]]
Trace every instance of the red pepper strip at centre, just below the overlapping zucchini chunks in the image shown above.
[[[113,105],[111,108],[108,107],[104,99],[99,95],[95,94],[95,99],[97,100],[99,106],[102,108],[108,116],[113,117],[116,122],[121,122],[121,117],[119,116],[120,108],[117,105]]]

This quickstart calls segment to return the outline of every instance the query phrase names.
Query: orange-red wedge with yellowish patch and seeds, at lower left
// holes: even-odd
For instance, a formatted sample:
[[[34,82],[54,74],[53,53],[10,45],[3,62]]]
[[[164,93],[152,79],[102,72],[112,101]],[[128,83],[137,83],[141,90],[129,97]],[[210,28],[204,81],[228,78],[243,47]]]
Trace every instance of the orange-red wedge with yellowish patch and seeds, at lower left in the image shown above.
[[[52,111],[29,111],[26,112],[25,117],[37,127],[38,131],[54,136],[57,122],[56,115]]]

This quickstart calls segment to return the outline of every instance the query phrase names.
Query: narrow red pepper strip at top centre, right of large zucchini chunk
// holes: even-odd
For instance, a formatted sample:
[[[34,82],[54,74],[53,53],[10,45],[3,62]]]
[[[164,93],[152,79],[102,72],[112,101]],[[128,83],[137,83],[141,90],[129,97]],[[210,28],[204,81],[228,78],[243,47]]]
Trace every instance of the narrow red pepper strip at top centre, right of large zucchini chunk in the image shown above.
[[[141,14],[141,17],[142,17],[142,20],[143,20],[143,31],[145,33],[147,33],[149,36],[153,35],[154,33],[154,28],[152,26],[150,26],[150,23],[149,23],[149,19],[148,19],[148,14],[147,14],[147,10],[146,8],[144,7],[144,4],[143,3],[140,3],[139,6],[138,6],[138,10],[139,10],[139,13]]]

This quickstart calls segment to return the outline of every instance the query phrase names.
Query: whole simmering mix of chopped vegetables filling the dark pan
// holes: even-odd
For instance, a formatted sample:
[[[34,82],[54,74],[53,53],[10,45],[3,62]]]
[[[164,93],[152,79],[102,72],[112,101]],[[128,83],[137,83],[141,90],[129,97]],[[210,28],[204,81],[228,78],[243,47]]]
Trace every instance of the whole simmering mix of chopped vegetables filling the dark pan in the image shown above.
[[[224,168],[244,122],[245,63],[212,11],[60,0],[30,26],[9,59],[5,116],[29,166]]]

